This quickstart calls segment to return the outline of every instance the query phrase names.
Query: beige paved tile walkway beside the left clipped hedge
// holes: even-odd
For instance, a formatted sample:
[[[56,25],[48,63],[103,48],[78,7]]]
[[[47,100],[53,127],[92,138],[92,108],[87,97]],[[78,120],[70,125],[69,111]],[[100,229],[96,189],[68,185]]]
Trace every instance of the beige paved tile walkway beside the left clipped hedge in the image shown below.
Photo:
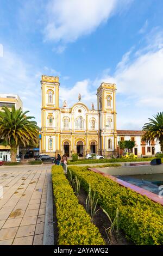
[[[0,167],[0,245],[42,245],[51,165]]]

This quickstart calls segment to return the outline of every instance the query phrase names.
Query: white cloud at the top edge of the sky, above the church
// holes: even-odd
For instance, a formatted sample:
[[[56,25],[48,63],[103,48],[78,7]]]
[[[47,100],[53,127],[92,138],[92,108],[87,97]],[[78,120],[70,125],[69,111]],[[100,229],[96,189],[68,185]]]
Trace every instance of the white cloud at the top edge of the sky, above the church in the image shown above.
[[[46,40],[72,42],[90,34],[132,0],[49,0],[46,8]]]

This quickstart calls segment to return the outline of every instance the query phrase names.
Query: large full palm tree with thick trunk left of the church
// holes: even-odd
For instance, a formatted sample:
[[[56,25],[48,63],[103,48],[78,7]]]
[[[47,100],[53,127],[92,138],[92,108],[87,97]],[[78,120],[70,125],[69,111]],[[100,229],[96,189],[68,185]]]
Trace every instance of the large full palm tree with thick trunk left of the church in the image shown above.
[[[16,162],[16,153],[19,145],[26,147],[32,140],[37,143],[39,127],[34,117],[27,117],[29,111],[22,112],[22,109],[3,107],[0,111],[0,138],[4,145],[10,146],[11,162]]]

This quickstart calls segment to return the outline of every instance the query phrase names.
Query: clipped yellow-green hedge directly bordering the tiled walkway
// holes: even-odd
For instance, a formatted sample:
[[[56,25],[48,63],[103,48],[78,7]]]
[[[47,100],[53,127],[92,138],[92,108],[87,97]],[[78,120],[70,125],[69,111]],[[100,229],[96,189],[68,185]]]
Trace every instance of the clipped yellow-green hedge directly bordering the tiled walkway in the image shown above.
[[[52,167],[52,182],[57,208],[59,245],[104,245],[98,228],[79,204],[61,166]]]

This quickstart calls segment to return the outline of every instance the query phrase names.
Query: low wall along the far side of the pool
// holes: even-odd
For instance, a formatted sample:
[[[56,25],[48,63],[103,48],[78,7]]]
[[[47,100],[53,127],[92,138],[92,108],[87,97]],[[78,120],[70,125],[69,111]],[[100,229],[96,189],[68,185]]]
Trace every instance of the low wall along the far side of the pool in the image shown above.
[[[163,173],[163,164],[159,166],[121,166],[121,167],[104,167],[96,168],[100,172],[109,175],[140,175],[140,174],[156,174]]]

